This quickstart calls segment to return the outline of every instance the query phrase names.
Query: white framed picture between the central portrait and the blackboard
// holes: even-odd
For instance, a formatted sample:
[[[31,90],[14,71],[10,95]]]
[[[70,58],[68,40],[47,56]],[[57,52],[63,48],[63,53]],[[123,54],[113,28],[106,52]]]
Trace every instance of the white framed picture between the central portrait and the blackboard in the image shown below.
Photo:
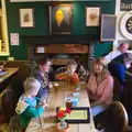
[[[86,7],[86,26],[99,26],[100,7]]]

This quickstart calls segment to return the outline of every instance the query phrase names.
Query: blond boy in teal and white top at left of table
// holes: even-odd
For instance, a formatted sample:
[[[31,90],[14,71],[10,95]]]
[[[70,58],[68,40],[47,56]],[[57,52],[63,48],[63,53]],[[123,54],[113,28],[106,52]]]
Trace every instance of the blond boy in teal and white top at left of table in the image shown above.
[[[20,114],[20,122],[23,129],[26,129],[32,118],[37,118],[44,112],[47,107],[47,101],[40,101],[35,97],[40,90],[41,84],[34,77],[29,77],[24,81],[24,94],[20,97],[15,111]],[[41,102],[41,103],[40,103]]]

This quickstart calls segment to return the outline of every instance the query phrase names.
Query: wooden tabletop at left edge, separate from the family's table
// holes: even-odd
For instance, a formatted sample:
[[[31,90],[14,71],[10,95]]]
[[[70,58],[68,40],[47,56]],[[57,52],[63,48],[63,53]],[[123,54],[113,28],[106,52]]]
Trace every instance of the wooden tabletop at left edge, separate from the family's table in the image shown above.
[[[19,68],[8,68],[7,70],[7,75],[0,76],[0,82],[4,81],[6,79],[8,79],[9,77],[11,77],[13,74],[15,74],[18,72]]]

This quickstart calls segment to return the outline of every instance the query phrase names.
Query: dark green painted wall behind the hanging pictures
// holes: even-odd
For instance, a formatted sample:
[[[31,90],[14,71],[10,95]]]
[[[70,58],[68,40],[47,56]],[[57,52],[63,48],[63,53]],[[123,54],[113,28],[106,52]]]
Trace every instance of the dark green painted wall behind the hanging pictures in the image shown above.
[[[8,30],[9,40],[10,33],[20,34],[20,45],[10,45],[10,56],[14,59],[22,61],[28,59],[26,44],[22,43],[22,35],[28,36],[42,36],[48,35],[48,2],[26,2],[26,3],[10,3],[10,0],[6,0],[7,3],[7,16],[8,16]],[[97,34],[100,35],[100,28],[86,28],[85,25],[85,6],[100,6],[101,13],[114,14],[116,0],[111,1],[97,1],[97,2],[73,2],[73,26],[72,34]],[[34,9],[34,22],[35,26],[31,29],[20,28],[19,9],[33,8]],[[95,44],[95,55],[100,56],[107,54],[112,48],[111,43]],[[0,57],[0,59],[7,59],[7,57]]]

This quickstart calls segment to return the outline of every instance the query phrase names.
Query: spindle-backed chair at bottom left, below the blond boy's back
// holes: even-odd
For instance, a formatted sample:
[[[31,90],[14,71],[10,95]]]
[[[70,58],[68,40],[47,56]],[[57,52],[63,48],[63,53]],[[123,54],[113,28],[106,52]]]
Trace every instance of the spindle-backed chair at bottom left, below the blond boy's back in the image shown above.
[[[11,118],[9,122],[9,132],[24,132],[18,114]]]

